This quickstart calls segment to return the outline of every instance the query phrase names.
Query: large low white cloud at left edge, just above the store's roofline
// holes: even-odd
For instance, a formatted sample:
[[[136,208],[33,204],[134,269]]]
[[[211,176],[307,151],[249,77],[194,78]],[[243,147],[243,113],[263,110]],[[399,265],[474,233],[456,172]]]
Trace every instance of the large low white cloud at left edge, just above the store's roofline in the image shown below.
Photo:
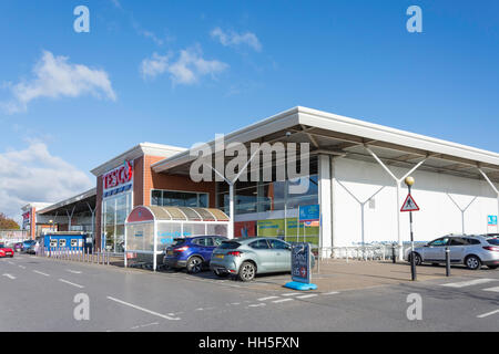
[[[71,164],[50,154],[45,144],[0,154],[0,212],[19,216],[32,201],[55,202],[88,190],[95,183]]]

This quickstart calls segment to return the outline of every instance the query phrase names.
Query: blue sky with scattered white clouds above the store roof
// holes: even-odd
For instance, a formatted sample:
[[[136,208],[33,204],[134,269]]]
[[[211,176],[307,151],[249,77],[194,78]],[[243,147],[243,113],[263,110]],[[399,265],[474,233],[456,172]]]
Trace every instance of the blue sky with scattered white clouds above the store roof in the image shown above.
[[[2,0],[0,208],[79,192],[140,142],[190,147],[296,105],[499,152],[498,20],[496,0]],[[27,189],[33,168],[75,180]]]

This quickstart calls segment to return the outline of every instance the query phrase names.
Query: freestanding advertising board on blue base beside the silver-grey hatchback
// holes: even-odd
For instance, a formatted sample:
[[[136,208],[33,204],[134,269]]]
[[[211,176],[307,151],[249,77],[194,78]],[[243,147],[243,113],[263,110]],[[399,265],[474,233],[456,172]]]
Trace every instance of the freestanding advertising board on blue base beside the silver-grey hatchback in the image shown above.
[[[285,287],[294,290],[314,290],[316,284],[310,283],[310,243],[293,243],[292,248],[292,282]]]

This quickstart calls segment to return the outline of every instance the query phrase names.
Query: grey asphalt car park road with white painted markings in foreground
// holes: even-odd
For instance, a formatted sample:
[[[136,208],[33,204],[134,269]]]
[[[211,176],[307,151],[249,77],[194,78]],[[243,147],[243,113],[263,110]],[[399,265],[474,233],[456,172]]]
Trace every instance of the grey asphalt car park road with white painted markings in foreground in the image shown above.
[[[277,277],[283,284],[289,279]],[[262,287],[266,279],[243,283],[17,256],[0,259],[0,331],[499,330],[499,270],[329,293]],[[420,320],[409,294],[420,296]]]

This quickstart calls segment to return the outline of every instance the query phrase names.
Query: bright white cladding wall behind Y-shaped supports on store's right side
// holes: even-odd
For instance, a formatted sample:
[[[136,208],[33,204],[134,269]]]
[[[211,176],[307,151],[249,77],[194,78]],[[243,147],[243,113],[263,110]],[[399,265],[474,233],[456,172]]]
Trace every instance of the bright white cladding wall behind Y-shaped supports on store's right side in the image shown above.
[[[334,246],[352,246],[363,241],[359,202],[365,202],[365,242],[397,241],[397,189],[393,178],[376,162],[335,158],[333,164]],[[397,177],[409,170],[391,166],[389,168]],[[462,232],[461,211],[450,197],[461,209],[477,197],[465,214],[466,233],[496,231],[487,227],[487,216],[497,215],[498,202],[486,181],[421,170],[416,170],[413,176],[416,179],[413,196],[421,209],[413,214],[416,241],[429,241],[447,233]],[[374,206],[369,205],[368,199],[379,189],[373,198]],[[400,205],[407,191],[403,183]],[[408,212],[400,216],[400,237],[403,242],[410,240]]]

